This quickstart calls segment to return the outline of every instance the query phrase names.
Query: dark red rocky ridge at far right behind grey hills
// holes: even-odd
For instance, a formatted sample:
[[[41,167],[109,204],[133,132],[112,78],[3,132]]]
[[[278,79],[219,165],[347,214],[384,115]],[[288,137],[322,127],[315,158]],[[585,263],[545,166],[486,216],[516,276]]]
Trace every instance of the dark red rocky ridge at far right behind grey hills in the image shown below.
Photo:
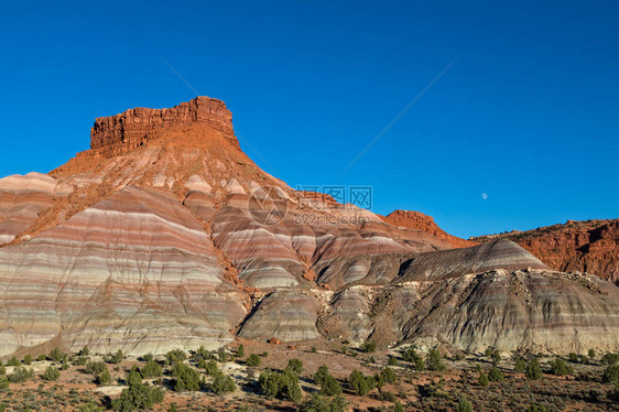
[[[619,282],[619,219],[571,220],[564,225],[474,240],[496,238],[515,241],[553,269],[587,272]]]

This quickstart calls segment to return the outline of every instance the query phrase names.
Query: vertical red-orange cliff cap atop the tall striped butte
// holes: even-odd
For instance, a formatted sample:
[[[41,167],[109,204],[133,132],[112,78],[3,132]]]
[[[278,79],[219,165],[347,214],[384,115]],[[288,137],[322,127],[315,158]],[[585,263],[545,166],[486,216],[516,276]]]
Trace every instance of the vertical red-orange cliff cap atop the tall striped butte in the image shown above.
[[[160,129],[186,123],[206,123],[238,142],[232,129],[232,113],[221,100],[199,96],[170,109],[135,108],[120,115],[95,120],[90,130],[90,149],[118,155],[144,145]]]

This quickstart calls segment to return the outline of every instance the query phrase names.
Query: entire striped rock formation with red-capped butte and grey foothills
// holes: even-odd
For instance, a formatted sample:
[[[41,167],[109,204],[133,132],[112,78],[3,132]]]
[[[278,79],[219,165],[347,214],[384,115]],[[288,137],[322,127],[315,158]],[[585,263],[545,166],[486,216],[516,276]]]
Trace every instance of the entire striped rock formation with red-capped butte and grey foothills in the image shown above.
[[[240,150],[230,112],[206,97],[97,119],[90,150],[0,180],[0,356],[236,336],[615,351],[617,297],[508,240],[296,192]]]

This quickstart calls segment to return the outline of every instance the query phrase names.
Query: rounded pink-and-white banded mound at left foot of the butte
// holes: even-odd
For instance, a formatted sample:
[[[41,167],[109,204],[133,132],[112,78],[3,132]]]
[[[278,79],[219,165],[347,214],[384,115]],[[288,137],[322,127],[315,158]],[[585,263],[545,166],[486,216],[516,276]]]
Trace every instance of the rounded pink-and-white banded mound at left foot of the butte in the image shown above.
[[[3,355],[57,337],[133,354],[218,346],[246,311],[202,225],[139,187],[0,249],[0,291]]]

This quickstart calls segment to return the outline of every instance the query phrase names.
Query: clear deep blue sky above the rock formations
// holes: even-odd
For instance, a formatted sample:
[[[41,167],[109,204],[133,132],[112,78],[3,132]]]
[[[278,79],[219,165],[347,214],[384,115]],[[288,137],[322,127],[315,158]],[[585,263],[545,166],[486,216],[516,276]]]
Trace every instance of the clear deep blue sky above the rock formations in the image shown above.
[[[374,212],[461,237],[617,218],[618,20],[617,1],[6,2],[0,176],[66,162],[96,117],[193,98],[166,61],[293,187],[371,185]]]

